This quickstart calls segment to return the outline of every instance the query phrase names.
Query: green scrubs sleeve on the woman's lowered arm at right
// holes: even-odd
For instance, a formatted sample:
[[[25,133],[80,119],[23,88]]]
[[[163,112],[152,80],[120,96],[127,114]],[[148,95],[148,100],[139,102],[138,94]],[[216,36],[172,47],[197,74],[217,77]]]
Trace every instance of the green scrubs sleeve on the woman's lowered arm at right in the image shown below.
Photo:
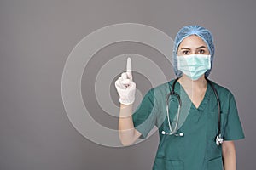
[[[236,100],[234,96],[230,94],[230,107],[228,111],[227,124],[224,130],[224,140],[236,140],[244,138],[245,136],[236,107]]]

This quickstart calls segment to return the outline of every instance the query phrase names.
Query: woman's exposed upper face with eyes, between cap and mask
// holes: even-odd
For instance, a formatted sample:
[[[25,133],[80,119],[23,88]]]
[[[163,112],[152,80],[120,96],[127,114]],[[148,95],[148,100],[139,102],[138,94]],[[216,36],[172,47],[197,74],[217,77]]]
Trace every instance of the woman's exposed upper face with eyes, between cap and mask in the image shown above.
[[[183,39],[177,48],[177,56],[189,54],[210,54],[206,42],[201,37],[191,35]]]

